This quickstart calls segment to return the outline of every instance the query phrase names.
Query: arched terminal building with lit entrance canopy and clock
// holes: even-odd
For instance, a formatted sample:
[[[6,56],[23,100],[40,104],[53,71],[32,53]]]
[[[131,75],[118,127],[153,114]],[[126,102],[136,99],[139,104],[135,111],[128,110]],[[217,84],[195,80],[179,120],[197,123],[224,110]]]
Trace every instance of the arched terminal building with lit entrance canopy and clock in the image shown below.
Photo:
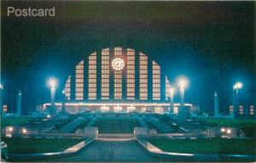
[[[81,59],[63,87],[68,113],[83,111],[149,112],[170,110],[170,82],[154,60],[132,48],[104,48]],[[180,104],[174,104],[177,114]],[[44,104],[44,109],[50,104]],[[62,107],[63,108],[63,107]],[[184,104],[194,110],[192,104]]]

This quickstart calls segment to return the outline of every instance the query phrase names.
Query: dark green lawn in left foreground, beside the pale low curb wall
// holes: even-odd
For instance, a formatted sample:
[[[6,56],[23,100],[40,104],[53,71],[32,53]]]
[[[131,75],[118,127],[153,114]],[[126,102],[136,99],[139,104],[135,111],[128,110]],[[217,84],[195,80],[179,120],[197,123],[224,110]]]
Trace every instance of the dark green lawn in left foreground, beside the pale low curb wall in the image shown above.
[[[9,154],[59,152],[81,142],[83,138],[2,138]]]

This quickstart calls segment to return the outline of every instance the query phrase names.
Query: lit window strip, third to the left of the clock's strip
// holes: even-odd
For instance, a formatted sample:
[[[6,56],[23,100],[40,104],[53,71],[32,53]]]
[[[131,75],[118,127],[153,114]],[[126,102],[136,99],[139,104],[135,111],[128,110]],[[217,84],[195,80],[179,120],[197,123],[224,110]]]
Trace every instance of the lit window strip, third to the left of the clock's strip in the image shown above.
[[[84,99],[84,60],[76,66],[76,94],[78,100]]]

